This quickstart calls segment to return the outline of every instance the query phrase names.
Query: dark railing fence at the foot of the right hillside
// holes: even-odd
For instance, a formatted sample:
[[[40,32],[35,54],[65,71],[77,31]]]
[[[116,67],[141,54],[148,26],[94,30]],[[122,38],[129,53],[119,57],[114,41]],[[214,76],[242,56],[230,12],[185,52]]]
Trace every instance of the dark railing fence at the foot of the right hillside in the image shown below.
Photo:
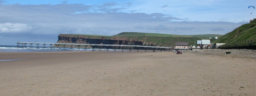
[[[216,45],[215,48],[221,49],[256,49],[256,39],[248,41],[240,41],[222,45]]]

